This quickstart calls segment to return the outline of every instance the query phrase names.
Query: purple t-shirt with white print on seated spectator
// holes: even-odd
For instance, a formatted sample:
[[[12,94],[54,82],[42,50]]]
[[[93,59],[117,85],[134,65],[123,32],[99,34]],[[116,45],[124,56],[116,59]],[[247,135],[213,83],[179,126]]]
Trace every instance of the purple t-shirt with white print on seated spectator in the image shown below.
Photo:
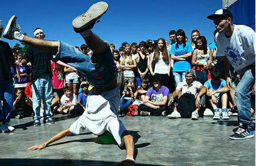
[[[161,86],[159,91],[155,91],[155,88],[149,88],[148,92],[146,92],[146,96],[150,97],[151,101],[160,102],[164,100],[164,96],[167,96],[169,94],[169,89],[167,87],[164,87],[164,85]]]

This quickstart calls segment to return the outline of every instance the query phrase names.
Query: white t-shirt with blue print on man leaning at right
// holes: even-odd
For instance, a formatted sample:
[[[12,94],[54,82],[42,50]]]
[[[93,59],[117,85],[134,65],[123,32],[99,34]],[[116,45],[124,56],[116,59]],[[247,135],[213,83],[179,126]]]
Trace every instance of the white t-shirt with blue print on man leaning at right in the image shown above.
[[[247,66],[255,65],[255,32],[245,25],[234,25],[232,36],[216,34],[216,56],[225,55],[238,74],[243,74]]]

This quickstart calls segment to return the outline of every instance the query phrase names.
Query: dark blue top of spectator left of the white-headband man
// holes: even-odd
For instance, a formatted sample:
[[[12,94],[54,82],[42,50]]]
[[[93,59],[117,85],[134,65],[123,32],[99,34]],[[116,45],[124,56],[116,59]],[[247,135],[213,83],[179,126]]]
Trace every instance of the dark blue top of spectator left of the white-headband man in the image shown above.
[[[25,65],[25,66],[18,66],[18,72],[20,74],[25,74],[25,73],[30,74],[32,70],[29,66]],[[13,75],[13,77],[17,74],[13,67],[11,67],[11,74]],[[15,84],[24,84],[29,82],[29,77],[21,76],[20,82],[18,82],[17,77],[14,77],[14,81],[15,81]]]

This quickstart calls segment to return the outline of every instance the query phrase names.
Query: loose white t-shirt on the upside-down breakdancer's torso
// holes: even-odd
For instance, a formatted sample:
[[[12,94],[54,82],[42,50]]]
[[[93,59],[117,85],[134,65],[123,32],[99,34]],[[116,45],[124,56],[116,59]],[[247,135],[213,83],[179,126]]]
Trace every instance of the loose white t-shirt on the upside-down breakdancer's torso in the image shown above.
[[[118,118],[119,98],[118,87],[101,95],[89,94],[85,112],[70,126],[70,132],[76,135],[82,132],[101,135],[107,130],[112,133],[119,146],[123,145],[121,134],[126,128]]]

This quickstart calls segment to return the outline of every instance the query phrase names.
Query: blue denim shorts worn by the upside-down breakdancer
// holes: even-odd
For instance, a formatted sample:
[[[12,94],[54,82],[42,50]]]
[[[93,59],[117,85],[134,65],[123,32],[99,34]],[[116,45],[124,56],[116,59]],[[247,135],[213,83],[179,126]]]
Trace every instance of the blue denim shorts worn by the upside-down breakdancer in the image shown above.
[[[94,56],[94,53],[92,56]],[[54,55],[54,60],[61,60],[78,69],[85,75],[90,85],[110,85],[113,84],[117,78],[117,68],[114,65],[114,57],[109,45],[105,52],[102,53],[102,58],[99,62],[92,63],[90,56],[84,55],[75,47],[59,41],[58,52]]]

